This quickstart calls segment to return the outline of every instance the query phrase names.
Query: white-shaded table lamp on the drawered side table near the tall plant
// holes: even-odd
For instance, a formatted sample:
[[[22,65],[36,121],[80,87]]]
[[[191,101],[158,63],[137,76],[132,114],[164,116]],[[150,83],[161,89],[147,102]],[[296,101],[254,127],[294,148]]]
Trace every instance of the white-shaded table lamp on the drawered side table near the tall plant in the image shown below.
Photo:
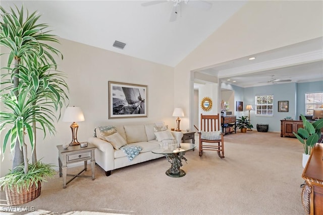
[[[64,116],[63,116],[63,122],[73,122],[70,126],[72,130],[72,141],[70,143],[70,146],[73,145],[79,145],[79,141],[77,140],[77,130],[79,128],[79,125],[76,122],[82,122],[84,121],[84,115],[81,110],[81,108],[73,106],[73,107],[67,107]]]

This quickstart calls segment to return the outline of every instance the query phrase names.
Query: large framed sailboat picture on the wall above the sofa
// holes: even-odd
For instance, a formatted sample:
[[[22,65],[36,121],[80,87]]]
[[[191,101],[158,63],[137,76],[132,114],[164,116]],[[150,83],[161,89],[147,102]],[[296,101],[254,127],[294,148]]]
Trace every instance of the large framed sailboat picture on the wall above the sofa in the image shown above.
[[[109,119],[148,116],[147,85],[109,81]]]

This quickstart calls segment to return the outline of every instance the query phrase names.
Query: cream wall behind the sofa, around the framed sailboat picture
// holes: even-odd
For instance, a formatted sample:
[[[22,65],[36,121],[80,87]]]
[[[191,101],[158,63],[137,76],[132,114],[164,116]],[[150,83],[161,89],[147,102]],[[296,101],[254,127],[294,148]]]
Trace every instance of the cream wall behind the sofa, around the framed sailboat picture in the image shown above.
[[[60,41],[62,45],[58,48],[62,51],[64,60],[58,61],[58,69],[68,75],[66,81],[70,88],[70,106],[80,106],[85,116],[85,121],[78,123],[79,141],[87,141],[93,135],[94,127],[99,125],[164,121],[169,127],[176,128],[176,118],[172,117],[174,68],[65,39]],[[147,85],[148,117],[109,120],[108,81]],[[182,108],[182,105],[179,107]],[[43,162],[58,166],[56,145],[71,141],[70,125],[71,123],[60,120],[56,124],[57,134],[54,137],[43,140],[42,136],[38,136],[38,158],[43,157]],[[1,142],[4,134],[1,133]],[[12,168],[11,159],[10,149],[7,148],[5,160],[1,163],[1,176]]]

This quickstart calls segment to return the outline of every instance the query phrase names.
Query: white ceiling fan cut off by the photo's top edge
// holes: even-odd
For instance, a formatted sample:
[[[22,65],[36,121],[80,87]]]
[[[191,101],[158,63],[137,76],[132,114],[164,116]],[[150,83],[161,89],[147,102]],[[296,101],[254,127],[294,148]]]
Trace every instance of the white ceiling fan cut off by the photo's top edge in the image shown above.
[[[182,3],[184,2],[185,4],[194,6],[196,8],[199,8],[201,10],[209,10],[212,7],[212,3],[206,2],[206,1],[200,1],[200,0],[194,0],[194,1],[189,1],[189,0],[167,0],[167,1],[147,1],[145,3],[142,3],[141,6],[147,7],[147,6],[152,6],[160,3],[166,3],[166,2],[172,2],[173,3],[173,9],[171,12],[171,17],[170,17],[170,22],[174,22],[177,19],[178,13],[181,11]]]

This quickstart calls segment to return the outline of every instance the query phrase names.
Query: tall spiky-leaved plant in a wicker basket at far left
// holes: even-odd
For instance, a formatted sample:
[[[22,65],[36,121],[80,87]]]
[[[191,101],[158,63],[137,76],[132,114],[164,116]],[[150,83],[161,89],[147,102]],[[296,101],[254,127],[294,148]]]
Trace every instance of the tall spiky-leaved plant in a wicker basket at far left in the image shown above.
[[[14,154],[12,170],[0,178],[0,187],[5,189],[9,205],[37,198],[42,181],[55,175],[52,165],[37,160],[36,129],[42,130],[44,137],[47,132],[55,134],[53,122],[59,119],[57,113],[68,99],[65,76],[56,70],[53,56],[59,56],[60,51],[46,43],[59,41],[48,34],[46,24],[37,23],[39,17],[36,12],[24,13],[23,6],[20,10],[10,8],[10,12],[0,7],[0,45],[8,52],[1,56],[8,56],[7,67],[1,68],[0,76],[0,100],[4,106],[0,132],[6,132],[2,155],[8,142]]]

